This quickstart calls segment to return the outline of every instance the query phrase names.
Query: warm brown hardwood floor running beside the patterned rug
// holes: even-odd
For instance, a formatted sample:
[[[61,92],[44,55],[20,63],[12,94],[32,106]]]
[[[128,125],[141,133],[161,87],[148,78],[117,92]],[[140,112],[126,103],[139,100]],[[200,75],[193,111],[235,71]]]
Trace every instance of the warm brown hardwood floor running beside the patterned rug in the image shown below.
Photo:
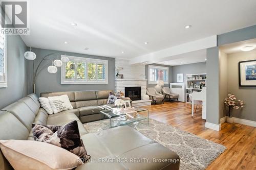
[[[198,108],[192,118],[191,105],[182,102],[164,102],[144,108],[150,111],[150,118],[225,145],[227,150],[207,169],[256,169],[256,128],[224,123],[219,132],[207,129],[202,108]]]

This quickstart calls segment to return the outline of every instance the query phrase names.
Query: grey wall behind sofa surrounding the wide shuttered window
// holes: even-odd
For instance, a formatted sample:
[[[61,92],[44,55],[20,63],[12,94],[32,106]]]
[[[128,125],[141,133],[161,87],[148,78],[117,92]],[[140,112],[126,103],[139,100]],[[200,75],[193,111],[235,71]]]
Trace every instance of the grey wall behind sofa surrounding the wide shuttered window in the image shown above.
[[[53,50],[45,50],[39,48],[32,48],[32,51],[36,54],[35,59],[35,66],[38,65],[41,59],[50,53],[61,53],[69,56],[76,56],[76,57],[86,57],[86,58],[95,58],[95,59],[102,59],[109,61],[109,84],[60,84],[60,68],[56,74],[50,74],[47,71],[47,67],[42,69],[42,71],[37,76],[36,80],[36,94],[39,96],[41,92],[50,92],[50,91],[79,91],[79,90],[115,90],[115,59],[114,58],[107,58],[107,57],[99,57],[99,56],[92,56],[92,55],[84,55],[84,54],[77,54],[77,53],[68,53],[68,52],[60,52],[60,51],[53,51]],[[53,56],[48,58],[54,58]],[[56,58],[56,57],[55,57]],[[32,70],[33,65],[32,61],[28,62],[28,90],[32,92]]]

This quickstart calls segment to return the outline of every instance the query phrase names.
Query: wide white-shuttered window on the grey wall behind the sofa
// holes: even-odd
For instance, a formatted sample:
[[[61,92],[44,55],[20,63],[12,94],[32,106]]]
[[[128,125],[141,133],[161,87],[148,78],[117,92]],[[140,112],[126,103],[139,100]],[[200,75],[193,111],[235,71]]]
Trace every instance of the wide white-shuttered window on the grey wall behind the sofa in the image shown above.
[[[61,66],[61,84],[108,84],[108,60],[67,56]]]

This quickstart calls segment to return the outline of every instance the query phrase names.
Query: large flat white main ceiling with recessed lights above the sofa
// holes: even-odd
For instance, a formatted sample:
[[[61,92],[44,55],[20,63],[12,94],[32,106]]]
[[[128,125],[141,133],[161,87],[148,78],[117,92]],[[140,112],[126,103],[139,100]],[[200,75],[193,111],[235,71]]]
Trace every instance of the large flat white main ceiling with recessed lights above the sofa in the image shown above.
[[[27,46],[125,59],[256,25],[255,0],[33,0],[29,5],[30,36],[22,36]]]

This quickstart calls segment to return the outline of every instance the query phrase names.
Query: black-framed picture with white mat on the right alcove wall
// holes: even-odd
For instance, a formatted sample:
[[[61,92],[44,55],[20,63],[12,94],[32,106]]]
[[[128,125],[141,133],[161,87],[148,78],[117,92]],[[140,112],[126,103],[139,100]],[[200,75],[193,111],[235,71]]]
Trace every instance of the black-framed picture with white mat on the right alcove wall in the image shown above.
[[[256,86],[256,60],[240,61],[239,86]]]

